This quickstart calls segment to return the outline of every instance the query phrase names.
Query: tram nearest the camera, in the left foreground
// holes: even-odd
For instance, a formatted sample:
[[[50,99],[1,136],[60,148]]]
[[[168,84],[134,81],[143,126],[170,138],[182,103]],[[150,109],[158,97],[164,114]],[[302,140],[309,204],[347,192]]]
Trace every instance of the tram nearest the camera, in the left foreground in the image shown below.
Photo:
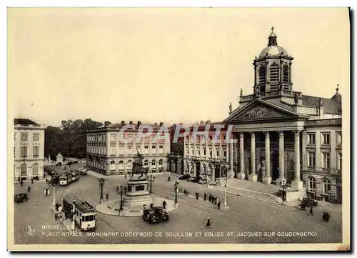
[[[88,202],[66,194],[63,199],[63,211],[67,218],[74,219],[76,227],[81,231],[96,230],[96,211]]]

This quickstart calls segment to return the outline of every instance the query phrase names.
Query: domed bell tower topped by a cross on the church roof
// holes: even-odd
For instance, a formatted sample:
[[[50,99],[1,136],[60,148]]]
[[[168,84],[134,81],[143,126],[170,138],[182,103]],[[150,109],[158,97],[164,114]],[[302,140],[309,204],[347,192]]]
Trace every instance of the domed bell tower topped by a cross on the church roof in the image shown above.
[[[253,61],[254,95],[264,96],[273,91],[292,91],[291,64],[293,57],[278,46],[277,36],[271,28],[268,46]]]

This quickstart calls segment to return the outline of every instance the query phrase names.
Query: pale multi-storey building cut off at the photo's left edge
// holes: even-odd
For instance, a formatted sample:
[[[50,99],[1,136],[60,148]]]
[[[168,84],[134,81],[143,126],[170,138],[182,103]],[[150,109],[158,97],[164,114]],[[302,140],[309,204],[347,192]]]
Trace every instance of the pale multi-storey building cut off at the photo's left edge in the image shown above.
[[[14,119],[14,179],[44,178],[44,130],[30,119]]]

